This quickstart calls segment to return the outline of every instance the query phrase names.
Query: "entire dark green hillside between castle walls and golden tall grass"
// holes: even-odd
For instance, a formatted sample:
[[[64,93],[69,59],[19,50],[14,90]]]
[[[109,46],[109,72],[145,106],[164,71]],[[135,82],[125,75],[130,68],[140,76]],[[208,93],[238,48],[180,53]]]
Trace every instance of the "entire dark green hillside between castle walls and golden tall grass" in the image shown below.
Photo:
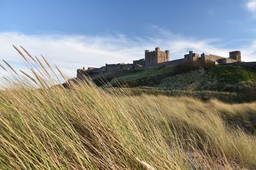
[[[252,67],[158,67],[106,73],[92,79],[100,87],[106,87],[107,83],[112,87],[131,87],[137,93],[138,90],[154,94],[161,91],[170,96],[192,97],[200,93],[202,99],[231,102],[256,99],[256,70]]]

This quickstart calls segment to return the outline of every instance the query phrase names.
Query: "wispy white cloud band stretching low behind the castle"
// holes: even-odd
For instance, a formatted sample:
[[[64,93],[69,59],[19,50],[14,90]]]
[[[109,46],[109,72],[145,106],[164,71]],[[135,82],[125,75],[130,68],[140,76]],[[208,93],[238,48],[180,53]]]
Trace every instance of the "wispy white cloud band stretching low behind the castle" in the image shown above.
[[[132,62],[144,57],[144,50],[154,50],[156,46],[169,49],[171,59],[180,59],[184,53],[194,50],[198,53],[214,53],[228,57],[230,50],[242,50],[243,60],[256,60],[256,41],[241,49],[226,48],[220,39],[196,39],[173,34],[170,31],[154,28],[154,37],[118,35],[27,35],[17,32],[0,32],[0,58],[10,61],[14,67],[20,66],[18,53],[12,44],[22,45],[36,56],[43,53],[69,76],[75,76],[81,67],[104,66],[106,63]]]

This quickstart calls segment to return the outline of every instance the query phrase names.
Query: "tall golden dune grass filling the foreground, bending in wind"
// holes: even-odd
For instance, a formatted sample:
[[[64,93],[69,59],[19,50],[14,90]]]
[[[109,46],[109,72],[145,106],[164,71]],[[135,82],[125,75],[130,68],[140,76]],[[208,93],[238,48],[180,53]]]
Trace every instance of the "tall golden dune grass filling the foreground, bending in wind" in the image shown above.
[[[1,169],[256,167],[256,137],[221,115],[255,115],[255,103],[134,97],[129,89],[106,92],[91,80],[68,81],[64,89],[54,85],[58,74],[66,79],[60,69],[55,73],[38,59],[26,58],[30,73],[7,64],[10,86],[0,92]]]

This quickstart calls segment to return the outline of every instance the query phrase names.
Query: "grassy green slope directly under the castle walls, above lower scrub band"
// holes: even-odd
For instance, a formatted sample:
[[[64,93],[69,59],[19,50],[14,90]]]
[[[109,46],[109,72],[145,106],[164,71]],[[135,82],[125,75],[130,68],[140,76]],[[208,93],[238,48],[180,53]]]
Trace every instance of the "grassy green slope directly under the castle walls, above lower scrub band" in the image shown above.
[[[93,81],[98,83],[98,78]],[[120,71],[106,73],[100,76],[111,85],[116,81],[125,81],[129,87],[162,87],[168,89],[184,90],[221,90],[225,85],[234,85],[241,81],[255,81],[256,71],[249,67],[216,66],[210,68],[197,68],[189,66],[157,67],[138,71]],[[217,89],[216,89],[217,87]]]

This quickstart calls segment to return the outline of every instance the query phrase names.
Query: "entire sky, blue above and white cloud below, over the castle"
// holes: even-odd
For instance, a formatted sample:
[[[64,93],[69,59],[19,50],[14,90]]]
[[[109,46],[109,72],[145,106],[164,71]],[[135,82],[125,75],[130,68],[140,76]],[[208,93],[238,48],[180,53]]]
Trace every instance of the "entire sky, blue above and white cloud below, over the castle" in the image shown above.
[[[22,67],[12,45],[42,53],[68,76],[81,67],[131,63],[144,50],[193,50],[256,60],[256,0],[0,0],[0,58]]]

